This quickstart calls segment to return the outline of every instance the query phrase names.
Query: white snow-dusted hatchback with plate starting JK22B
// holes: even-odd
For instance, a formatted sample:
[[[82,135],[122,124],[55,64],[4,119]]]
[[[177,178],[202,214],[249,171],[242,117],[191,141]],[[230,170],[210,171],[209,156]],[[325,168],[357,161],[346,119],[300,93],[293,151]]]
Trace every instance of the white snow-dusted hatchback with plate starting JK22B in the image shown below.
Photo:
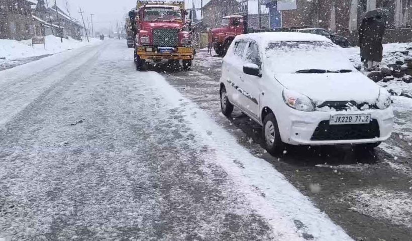
[[[378,146],[392,132],[390,94],[341,51],[313,34],[237,36],[223,59],[222,112],[236,106],[259,123],[272,154],[285,143]]]

